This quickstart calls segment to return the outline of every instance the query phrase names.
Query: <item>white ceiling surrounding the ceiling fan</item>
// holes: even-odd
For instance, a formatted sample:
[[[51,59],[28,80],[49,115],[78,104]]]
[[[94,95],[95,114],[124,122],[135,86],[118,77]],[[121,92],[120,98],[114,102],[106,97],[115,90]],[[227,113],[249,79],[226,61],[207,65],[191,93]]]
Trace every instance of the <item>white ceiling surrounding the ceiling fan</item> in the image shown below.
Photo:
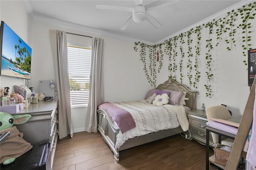
[[[180,30],[223,12],[230,6],[244,3],[242,0],[176,0],[172,4],[148,12],[162,24],[160,28],[155,28],[144,20],[141,23],[132,22],[126,30],[119,30],[132,13],[99,10],[96,9],[96,4],[132,8],[135,6],[134,0],[26,0],[24,2],[32,18],[58,20],[83,27],[85,30],[88,28],[151,43],[166,40]],[[154,1],[143,0],[143,5],[152,2]]]

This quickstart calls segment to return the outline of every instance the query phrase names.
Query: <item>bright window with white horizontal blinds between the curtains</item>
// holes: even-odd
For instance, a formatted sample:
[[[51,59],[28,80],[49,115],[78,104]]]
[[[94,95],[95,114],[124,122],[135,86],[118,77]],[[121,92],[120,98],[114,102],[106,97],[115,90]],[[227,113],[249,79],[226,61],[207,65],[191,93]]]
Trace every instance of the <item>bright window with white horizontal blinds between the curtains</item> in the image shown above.
[[[68,44],[71,107],[88,105],[91,47]]]

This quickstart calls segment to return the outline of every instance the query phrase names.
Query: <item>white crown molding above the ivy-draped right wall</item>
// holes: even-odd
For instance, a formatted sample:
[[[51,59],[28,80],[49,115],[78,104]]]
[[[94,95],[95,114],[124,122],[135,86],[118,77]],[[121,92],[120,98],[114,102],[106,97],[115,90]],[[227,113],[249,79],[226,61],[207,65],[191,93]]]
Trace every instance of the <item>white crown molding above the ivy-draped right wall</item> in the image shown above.
[[[195,23],[195,24],[193,24],[193,25],[191,25],[191,26],[189,26],[189,27],[187,27],[187,28],[184,28],[184,29],[180,30],[179,32],[176,32],[176,33],[174,33],[174,34],[172,34],[172,35],[170,35],[170,36],[168,36],[168,37],[166,37],[166,38],[163,38],[162,40],[159,40],[159,41],[157,41],[157,42],[154,42],[154,45],[159,44],[159,43],[163,43],[165,40],[168,40],[168,39],[170,39],[170,38],[172,38],[172,37],[174,37],[174,36],[178,36],[178,35],[180,35],[181,33],[187,32],[187,31],[189,31],[191,28],[196,28],[196,26],[201,26],[201,25],[206,24],[206,23],[208,23],[208,22],[210,22],[210,21],[212,21],[212,20],[214,20],[214,19],[215,19],[215,20],[216,20],[216,19],[219,19],[219,18],[225,16],[225,15],[226,15],[228,12],[230,12],[231,10],[239,9],[239,8],[241,8],[242,6],[244,6],[244,5],[246,5],[246,4],[249,4],[249,3],[251,3],[251,2],[254,2],[254,1],[255,1],[255,0],[243,0],[243,1],[241,1],[241,2],[238,2],[237,4],[234,4],[234,5],[232,5],[232,6],[228,7],[228,8],[226,8],[226,9],[224,9],[224,10],[222,10],[222,11],[220,11],[220,12],[218,12],[218,13],[212,15],[212,16],[209,16],[208,18],[205,18],[204,20],[201,20],[201,21],[199,21],[199,22],[197,22],[197,23]]]

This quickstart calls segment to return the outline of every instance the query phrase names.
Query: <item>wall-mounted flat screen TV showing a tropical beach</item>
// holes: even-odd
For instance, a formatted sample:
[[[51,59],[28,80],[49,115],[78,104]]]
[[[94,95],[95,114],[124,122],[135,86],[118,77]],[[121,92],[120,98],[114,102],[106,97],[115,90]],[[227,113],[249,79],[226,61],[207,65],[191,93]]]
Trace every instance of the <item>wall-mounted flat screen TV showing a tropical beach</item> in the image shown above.
[[[0,28],[0,75],[30,79],[32,49],[5,22]]]

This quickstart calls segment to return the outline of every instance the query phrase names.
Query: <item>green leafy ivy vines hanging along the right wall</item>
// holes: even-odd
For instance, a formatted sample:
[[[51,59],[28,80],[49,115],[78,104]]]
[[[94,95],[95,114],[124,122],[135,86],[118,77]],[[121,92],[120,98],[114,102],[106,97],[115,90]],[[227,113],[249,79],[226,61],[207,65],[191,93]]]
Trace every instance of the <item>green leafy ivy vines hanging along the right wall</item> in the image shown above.
[[[250,43],[252,41],[252,37],[250,36],[250,33],[252,33],[251,21],[254,20],[255,15],[256,2],[254,1],[253,3],[242,6],[242,8],[228,12],[226,16],[222,18],[214,19],[206,24],[196,26],[196,28],[191,28],[188,32],[183,32],[178,36],[173,36],[172,38],[165,40],[163,43],[147,45],[135,42],[134,50],[137,51],[138,47],[140,47],[140,60],[144,63],[144,72],[148,82],[152,87],[156,86],[156,75],[157,73],[160,73],[160,70],[162,69],[162,60],[164,55],[167,55],[169,61],[169,77],[176,80],[176,76],[179,75],[178,78],[181,82],[183,78],[188,78],[190,86],[197,89],[198,82],[201,77],[201,72],[198,69],[198,59],[202,58],[200,57],[200,55],[202,55],[200,51],[204,49],[206,51],[204,58],[206,67],[205,74],[207,77],[207,83],[204,85],[206,89],[205,94],[207,97],[211,97],[211,81],[214,76],[212,71],[212,50],[214,47],[220,45],[220,42],[224,40],[228,45],[227,50],[230,51],[234,47],[237,48],[236,39],[242,38],[242,55],[246,57],[248,50],[252,49]],[[204,40],[206,44],[204,47],[202,45],[201,36],[201,30],[203,28],[207,30],[208,35],[206,40]],[[242,37],[236,36],[238,30],[242,32]],[[192,43],[195,45],[193,46]],[[177,50],[178,46],[180,50]],[[162,47],[164,47],[164,51],[162,51]],[[146,53],[146,51],[148,51],[148,53]],[[160,53],[159,63],[157,64],[156,51],[159,51]],[[185,67],[187,68],[186,77],[183,75],[184,59],[187,61],[187,65]],[[148,62],[149,64],[147,64]],[[246,60],[243,61],[245,65],[247,65],[246,62]],[[192,74],[194,74],[194,76]]]

